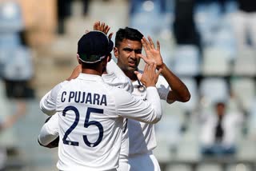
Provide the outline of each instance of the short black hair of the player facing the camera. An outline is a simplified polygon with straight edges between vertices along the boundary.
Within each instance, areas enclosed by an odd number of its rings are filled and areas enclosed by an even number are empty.
[[[143,34],[136,29],[126,26],[125,29],[120,28],[115,36],[115,45],[119,46],[123,39],[141,42]]]

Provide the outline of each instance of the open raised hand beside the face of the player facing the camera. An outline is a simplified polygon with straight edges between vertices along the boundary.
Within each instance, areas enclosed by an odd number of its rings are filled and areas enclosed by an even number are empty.
[[[160,42],[157,41],[157,48],[154,46],[154,42],[152,41],[152,38],[150,38],[150,36],[148,37],[148,40],[143,37],[141,42],[145,50],[146,56],[142,54],[138,54],[138,56],[142,58],[147,64],[156,63],[158,69],[162,68],[163,62],[160,53]]]

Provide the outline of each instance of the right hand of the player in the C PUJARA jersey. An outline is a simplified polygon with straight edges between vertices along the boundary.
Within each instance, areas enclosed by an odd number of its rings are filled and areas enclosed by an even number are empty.
[[[148,86],[155,86],[158,82],[158,76],[161,73],[162,69],[159,69],[156,72],[157,65],[155,63],[146,64],[144,68],[143,74],[140,74],[138,71],[134,73],[137,75],[138,79],[140,77],[140,82],[146,87]]]

